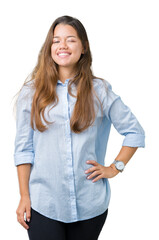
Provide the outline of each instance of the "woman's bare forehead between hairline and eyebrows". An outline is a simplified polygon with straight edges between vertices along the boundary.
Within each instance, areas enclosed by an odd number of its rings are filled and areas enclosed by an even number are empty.
[[[68,25],[68,24],[58,24],[53,33],[53,37],[63,37],[63,36],[76,36],[77,37],[77,32],[76,30]]]

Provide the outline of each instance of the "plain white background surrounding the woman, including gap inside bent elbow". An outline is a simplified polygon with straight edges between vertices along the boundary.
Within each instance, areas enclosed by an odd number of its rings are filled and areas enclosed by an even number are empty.
[[[3,1],[0,6],[0,238],[28,239],[17,222],[20,195],[13,151],[13,96],[37,62],[52,22],[78,18],[85,26],[93,71],[107,79],[143,126],[146,147],[125,171],[110,179],[109,214],[99,240],[159,239],[159,7],[158,1]],[[119,153],[123,136],[112,126],[106,165]],[[3,236],[3,237],[2,237]]]

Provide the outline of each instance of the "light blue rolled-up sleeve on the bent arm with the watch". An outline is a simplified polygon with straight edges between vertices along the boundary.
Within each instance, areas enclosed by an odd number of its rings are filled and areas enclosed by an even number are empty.
[[[107,90],[103,95],[104,113],[115,129],[125,136],[122,146],[144,148],[145,131],[141,124],[121,97],[112,91],[111,84],[106,80],[105,85]]]

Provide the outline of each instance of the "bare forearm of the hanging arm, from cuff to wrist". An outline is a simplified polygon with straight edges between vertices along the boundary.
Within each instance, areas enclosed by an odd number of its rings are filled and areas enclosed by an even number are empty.
[[[31,164],[21,164],[17,166],[19,190],[21,197],[29,196],[29,177]]]

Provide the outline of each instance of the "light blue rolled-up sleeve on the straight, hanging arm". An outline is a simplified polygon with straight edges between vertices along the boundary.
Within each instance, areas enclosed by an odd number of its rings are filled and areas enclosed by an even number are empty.
[[[14,142],[15,166],[34,163],[33,134],[30,125],[31,99],[30,89],[23,86],[16,104],[16,136]]]

